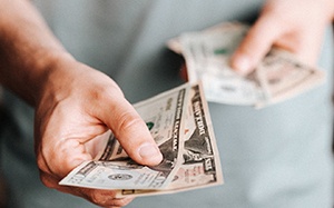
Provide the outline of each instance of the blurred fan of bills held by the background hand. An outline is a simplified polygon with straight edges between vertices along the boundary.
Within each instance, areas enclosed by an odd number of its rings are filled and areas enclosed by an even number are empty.
[[[255,106],[284,101],[324,81],[323,71],[298,61],[292,53],[273,48],[244,77],[230,66],[230,56],[248,31],[248,26],[225,22],[204,31],[186,32],[167,42],[184,56],[190,83],[203,81],[208,101]]]

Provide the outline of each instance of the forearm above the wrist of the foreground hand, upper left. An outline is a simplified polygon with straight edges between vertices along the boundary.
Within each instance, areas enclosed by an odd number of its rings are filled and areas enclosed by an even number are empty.
[[[72,59],[28,0],[0,0],[0,83],[35,105],[48,73]]]

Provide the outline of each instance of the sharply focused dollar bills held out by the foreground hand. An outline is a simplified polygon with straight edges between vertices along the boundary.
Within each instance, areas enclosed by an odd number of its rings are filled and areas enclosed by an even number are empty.
[[[134,105],[146,121],[164,160],[156,167],[134,162],[112,132],[95,160],[73,169],[59,184],[114,189],[117,196],[147,196],[223,184],[223,172],[202,86],[183,85]]]

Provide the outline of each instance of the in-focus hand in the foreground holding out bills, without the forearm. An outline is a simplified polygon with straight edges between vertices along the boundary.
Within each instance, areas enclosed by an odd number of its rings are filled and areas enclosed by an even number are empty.
[[[70,170],[96,156],[97,136],[111,129],[137,162],[158,165],[163,156],[146,123],[106,75],[75,60],[50,69],[36,110],[36,153],[48,187],[84,197],[99,206],[125,206],[115,191],[59,186]]]

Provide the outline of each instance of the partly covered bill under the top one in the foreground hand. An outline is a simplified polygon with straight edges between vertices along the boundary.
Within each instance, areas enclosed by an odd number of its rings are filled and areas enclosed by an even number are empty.
[[[121,190],[120,196],[161,195],[224,184],[219,153],[202,86],[190,88],[181,130],[181,157],[170,184],[159,190]]]

